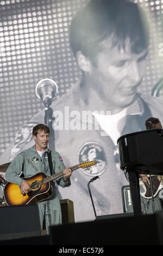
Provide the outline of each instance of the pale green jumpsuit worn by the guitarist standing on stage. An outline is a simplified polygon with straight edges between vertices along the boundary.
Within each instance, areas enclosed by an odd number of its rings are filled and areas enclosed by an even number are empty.
[[[22,151],[9,165],[9,168],[5,173],[6,180],[21,186],[23,181],[23,178],[20,177],[22,166],[24,177],[33,176],[37,174],[37,172],[45,172],[47,176],[51,176],[47,152],[49,152],[48,148],[46,148],[45,153],[43,153],[42,157],[40,157],[35,149],[35,146]],[[53,150],[51,152],[53,172],[57,173],[65,170],[65,165],[60,154]],[[43,218],[45,216],[46,230],[48,234],[49,227],[51,225],[58,225],[62,222],[59,191],[57,185],[61,187],[69,187],[71,185],[70,180],[65,182],[62,177],[57,178],[55,181],[53,180],[52,196],[48,200],[38,203],[41,228],[43,224]]]

